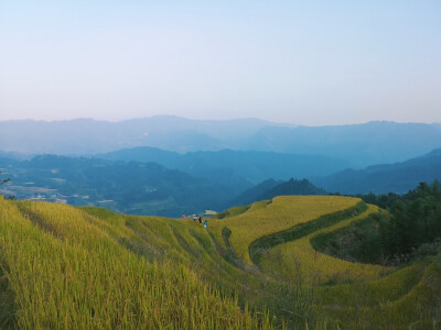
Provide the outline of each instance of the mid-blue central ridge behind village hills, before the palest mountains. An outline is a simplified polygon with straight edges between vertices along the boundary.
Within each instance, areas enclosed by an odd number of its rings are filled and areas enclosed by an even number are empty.
[[[232,150],[179,154],[154,147],[136,147],[99,154],[96,157],[126,162],[154,162],[195,177],[227,184],[236,193],[241,193],[268,178],[324,176],[348,166],[347,162],[330,156]]]

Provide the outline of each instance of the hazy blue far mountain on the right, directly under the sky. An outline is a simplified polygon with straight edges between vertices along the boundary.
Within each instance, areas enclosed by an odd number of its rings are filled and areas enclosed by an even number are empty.
[[[298,154],[320,154],[351,162],[352,167],[395,163],[441,147],[437,124],[369,122],[355,125],[263,128],[240,146]]]

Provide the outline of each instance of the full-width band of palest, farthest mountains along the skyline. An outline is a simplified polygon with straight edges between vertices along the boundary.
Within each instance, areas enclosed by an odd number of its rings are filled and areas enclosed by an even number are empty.
[[[0,150],[8,152],[86,155],[136,146],[179,153],[229,148],[322,155],[343,160],[348,167],[363,168],[404,162],[441,147],[441,127],[369,122],[314,128],[257,119],[203,121],[178,117],[120,122],[90,119],[0,122]]]

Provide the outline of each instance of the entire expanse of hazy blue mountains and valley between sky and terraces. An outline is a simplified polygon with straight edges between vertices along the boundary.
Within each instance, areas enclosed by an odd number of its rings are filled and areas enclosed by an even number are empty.
[[[135,215],[222,211],[275,197],[266,190],[290,179],[315,187],[283,195],[405,194],[441,179],[437,124],[308,128],[154,117],[0,128],[0,167],[12,179],[2,194]]]

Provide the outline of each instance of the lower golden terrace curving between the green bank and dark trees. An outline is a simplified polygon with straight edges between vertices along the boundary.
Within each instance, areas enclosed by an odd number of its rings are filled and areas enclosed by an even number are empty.
[[[279,277],[301,271],[303,276],[311,279],[313,278],[316,283],[333,279],[341,282],[378,277],[387,271],[386,267],[340,260],[315,251],[310,242],[311,239],[320,234],[347,227],[378,211],[378,207],[369,205],[367,210],[361,215],[345,219],[332,227],[320,229],[299,240],[270,249],[261,256],[261,267],[263,272],[272,273]]]

